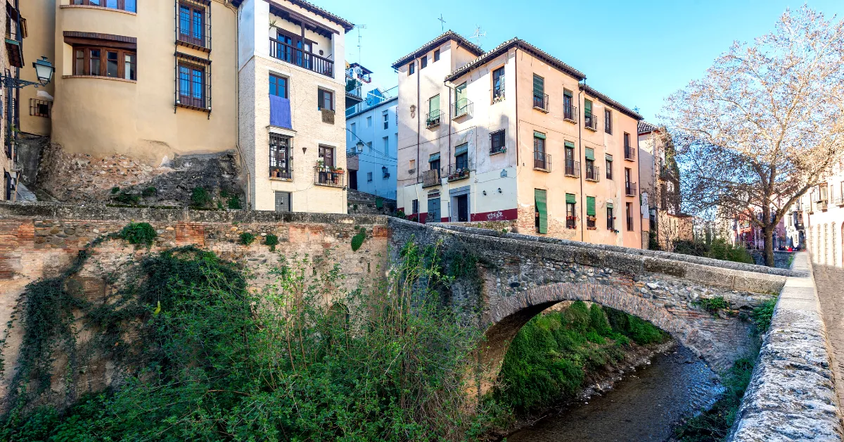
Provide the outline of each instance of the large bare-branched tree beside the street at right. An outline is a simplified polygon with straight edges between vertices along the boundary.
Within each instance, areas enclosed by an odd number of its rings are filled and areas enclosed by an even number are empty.
[[[748,216],[774,265],[776,224],[844,151],[842,97],[844,22],[836,16],[786,10],[771,34],[733,43],[663,109],[684,204]]]

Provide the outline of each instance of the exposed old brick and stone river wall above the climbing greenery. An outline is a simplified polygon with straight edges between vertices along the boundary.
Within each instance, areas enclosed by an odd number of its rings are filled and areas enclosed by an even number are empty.
[[[315,270],[338,264],[344,276],[339,288],[344,291],[371,286],[387,270],[385,216],[0,203],[0,324],[6,324],[27,284],[59,275],[93,239],[119,232],[130,221],[154,226],[158,236],[153,247],[134,248],[121,239],[95,247],[91,259],[74,276],[86,296],[113,291],[114,285],[124,281],[121,276],[147,254],[191,244],[245,265],[254,276],[250,283],[255,290],[273,281],[270,272],[282,259],[294,257],[325,258],[311,264]],[[367,238],[363,247],[353,252],[351,237],[360,227],[365,228]],[[257,240],[242,245],[241,232],[252,232]],[[279,237],[275,252],[263,243],[267,234]],[[118,277],[114,280],[113,276]],[[17,357],[19,342],[20,330],[13,329],[4,351],[7,361]],[[91,390],[106,386],[110,379],[105,365],[98,367],[88,370],[91,374],[85,383]],[[8,373],[4,379],[9,379]],[[2,386],[0,395],[5,384]]]

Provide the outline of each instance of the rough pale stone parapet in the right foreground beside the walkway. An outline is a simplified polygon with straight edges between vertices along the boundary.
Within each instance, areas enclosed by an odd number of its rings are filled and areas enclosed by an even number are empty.
[[[842,440],[830,344],[808,255],[797,254],[793,267],[809,276],[790,277],[782,289],[728,440]]]

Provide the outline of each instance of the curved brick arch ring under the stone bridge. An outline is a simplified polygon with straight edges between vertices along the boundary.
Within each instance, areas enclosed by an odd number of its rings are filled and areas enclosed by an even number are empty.
[[[716,346],[712,341],[668,309],[616,286],[587,282],[558,282],[502,298],[499,303],[489,309],[489,314],[485,316],[486,341],[482,344],[480,363],[486,372],[483,378],[490,382],[482,382],[482,391],[487,390],[491,381],[497,377],[501,364],[504,362],[507,347],[522,326],[545,308],[562,301],[598,303],[645,319],[668,332],[675,340],[689,347],[698,356],[703,357],[711,367],[726,368],[722,357],[714,353]]]

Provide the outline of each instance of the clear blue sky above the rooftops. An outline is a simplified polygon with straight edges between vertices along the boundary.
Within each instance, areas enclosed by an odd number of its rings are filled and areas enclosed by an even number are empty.
[[[803,0],[312,0],[366,25],[360,63],[385,87],[397,84],[390,65],[446,30],[470,36],[480,26],[484,50],[514,36],[582,71],[587,82],[655,120],[663,100],[700,78],[733,41],[773,29],[786,8]],[[844,0],[809,0],[828,17],[844,16]],[[346,34],[346,59],[358,61],[358,31]]]

